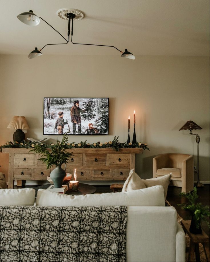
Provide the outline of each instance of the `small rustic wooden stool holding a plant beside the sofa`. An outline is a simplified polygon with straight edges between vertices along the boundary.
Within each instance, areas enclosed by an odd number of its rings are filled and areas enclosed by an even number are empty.
[[[209,237],[203,230],[201,234],[191,233],[190,224],[191,224],[191,220],[181,220],[181,225],[183,227],[183,230],[185,233],[187,233],[187,235],[190,238],[190,246],[186,247],[186,250],[189,249],[189,255],[187,261],[193,261],[194,252],[195,252],[196,261],[201,261],[198,243],[202,243],[206,255],[206,259],[207,261],[209,261]]]

